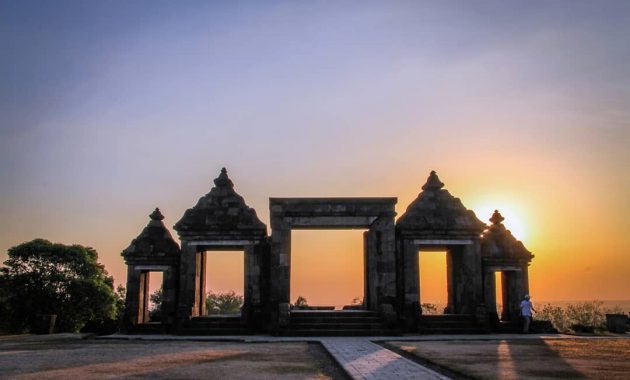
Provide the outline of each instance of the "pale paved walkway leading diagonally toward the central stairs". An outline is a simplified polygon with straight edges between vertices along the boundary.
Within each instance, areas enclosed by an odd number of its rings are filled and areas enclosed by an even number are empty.
[[[320,342],[356,380],[449,379],[365,338],[321,338]]]

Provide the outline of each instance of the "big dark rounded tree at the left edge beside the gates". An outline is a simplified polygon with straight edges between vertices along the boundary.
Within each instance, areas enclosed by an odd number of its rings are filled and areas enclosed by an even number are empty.
[[[93,248],[35,239],[10,248],[8,256],[0,299],[10,330],[32,330],[40,314],[56,314],[59,331],[115,317],[113,279]]]

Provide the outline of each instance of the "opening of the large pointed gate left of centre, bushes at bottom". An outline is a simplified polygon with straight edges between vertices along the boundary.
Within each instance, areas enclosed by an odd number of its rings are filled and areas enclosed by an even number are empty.
[[[243,251],[204,252],[205,314],[240,314],[245,289]]]

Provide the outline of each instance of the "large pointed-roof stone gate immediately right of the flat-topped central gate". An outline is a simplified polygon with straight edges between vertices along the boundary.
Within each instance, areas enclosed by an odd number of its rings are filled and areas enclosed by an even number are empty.
[[[481,233],[486,225],[452,196],[432,171],[422,192],[396,222],[402,319],[417,325],[420,309],[418,251],[447,252],[449,314],[476,315],[482,304]]]

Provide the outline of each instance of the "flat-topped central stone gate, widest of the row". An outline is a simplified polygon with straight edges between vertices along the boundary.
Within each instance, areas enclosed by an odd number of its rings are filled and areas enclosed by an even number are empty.
[[[270,198],[271,312],[280,326],[288,323],[291,284],[291,230],[366,228],[365,295],[367,310],[395,320],[396,198]]]

